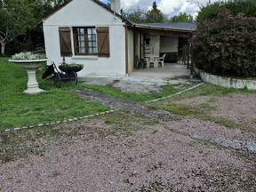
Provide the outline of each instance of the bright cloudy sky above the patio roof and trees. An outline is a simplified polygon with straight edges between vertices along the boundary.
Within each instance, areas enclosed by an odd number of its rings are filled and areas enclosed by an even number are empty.
[[[106,2],[107,0],[101,0]],[[129,9],[132,7],[140,7],[142,9],[148,9],[152,6],[155,0],[121,0],[122,7],[124,9]],[[215,2],[218,0],[212,0]],[[158,8],[168,15],[176,15],[179,12],[187,12],[196,15],[200,5],[205,5],[209,0],[156,0]]]

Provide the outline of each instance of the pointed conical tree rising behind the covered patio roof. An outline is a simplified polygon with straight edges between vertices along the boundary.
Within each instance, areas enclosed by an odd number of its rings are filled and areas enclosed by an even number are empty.
[[[157,4],[156,1],[153,2],[152,5],[152,9],[149,10],[148,12],[146,12],[146,22],[150,23],[150,22],[164,22],[166,21],[166,17],[164,17],[164,13],[161,12],[158,8],[157,8]]]

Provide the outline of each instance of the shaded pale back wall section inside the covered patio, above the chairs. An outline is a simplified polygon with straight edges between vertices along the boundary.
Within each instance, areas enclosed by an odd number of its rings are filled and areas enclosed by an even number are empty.
[[[178,52],[179,38],[174,36],[161,36],[160,52]]]

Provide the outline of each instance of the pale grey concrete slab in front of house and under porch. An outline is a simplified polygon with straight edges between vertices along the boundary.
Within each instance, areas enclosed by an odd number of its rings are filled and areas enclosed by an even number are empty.
[[[87,76],[79,78],[79,81],[84,84],[111,85],[122,92],[148,93],[163,92],[162,86],[166,84],[191,84],[188,76],[186,66],[165,64],[164,68],[138,69],[124,77]]]

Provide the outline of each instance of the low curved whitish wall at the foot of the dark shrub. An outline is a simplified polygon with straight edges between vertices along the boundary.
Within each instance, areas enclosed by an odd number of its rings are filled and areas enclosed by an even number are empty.
[[[201,76],[202,80],[209,84],[216,84],[223,87],[256,90],[256,80],[239,79],[225,76],[215,76],[196,68],[196,73]]]

